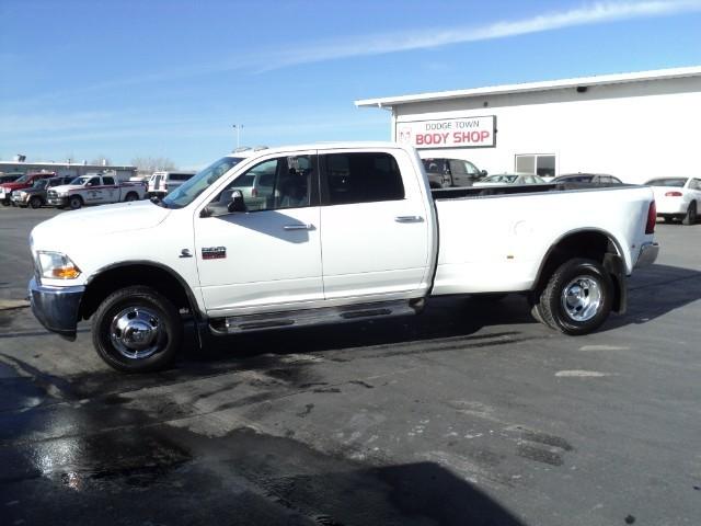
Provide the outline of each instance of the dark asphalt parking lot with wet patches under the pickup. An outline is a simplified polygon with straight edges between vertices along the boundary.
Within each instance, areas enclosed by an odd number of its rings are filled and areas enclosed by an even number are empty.
[[[55,214],[0,208],[2,525],[701,523],[701,225],[596,334],[447,298],[124,376],[15,301]]]

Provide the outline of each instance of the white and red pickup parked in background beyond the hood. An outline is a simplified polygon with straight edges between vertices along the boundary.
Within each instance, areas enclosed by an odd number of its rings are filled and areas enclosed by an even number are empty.
[[[146,196],[146,186],[140,182],[123,183],[112,175],[87,174],[76,178],[70,184],[48,191],[48,204],[58,208],[77,210],[84,205],[104,205],[120,201],[138,201]]]

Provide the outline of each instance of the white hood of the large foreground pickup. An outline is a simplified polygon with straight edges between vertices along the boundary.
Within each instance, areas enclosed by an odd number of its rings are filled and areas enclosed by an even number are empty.
[[[37,225],[32,230],[32,240],[36,250],[66,251],[73,242],[84,244],[90,237],[153,228],[171,211],[150,201],[65,211]]]

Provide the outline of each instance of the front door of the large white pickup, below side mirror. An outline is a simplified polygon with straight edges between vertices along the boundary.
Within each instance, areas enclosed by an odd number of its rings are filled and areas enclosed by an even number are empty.
[[[232,192],[245,188],[260,174],[272,174],[273,186],[255,195],[242,191],[248,211],[229,213]],[[203,210],[194,218],[194,255],[209,316],[284,310],[323,301],[319,178],[313,152],[256,163]]]

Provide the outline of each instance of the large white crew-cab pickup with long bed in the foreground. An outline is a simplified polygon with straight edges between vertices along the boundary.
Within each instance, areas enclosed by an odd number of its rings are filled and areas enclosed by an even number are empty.
[[[274,173],[263,203],[240,190]],[[416,152],[342,144],[225,157],[161,202],[64,214],[30,243],[32,308],[100,356],[164,367],[192,316],[211,335],[416,313],[428,296],[526,294],[567,334],[625,308],[627,276],[655,261],[643,186],[429,190]],[[74,232],[80,230],[80,236]]]

